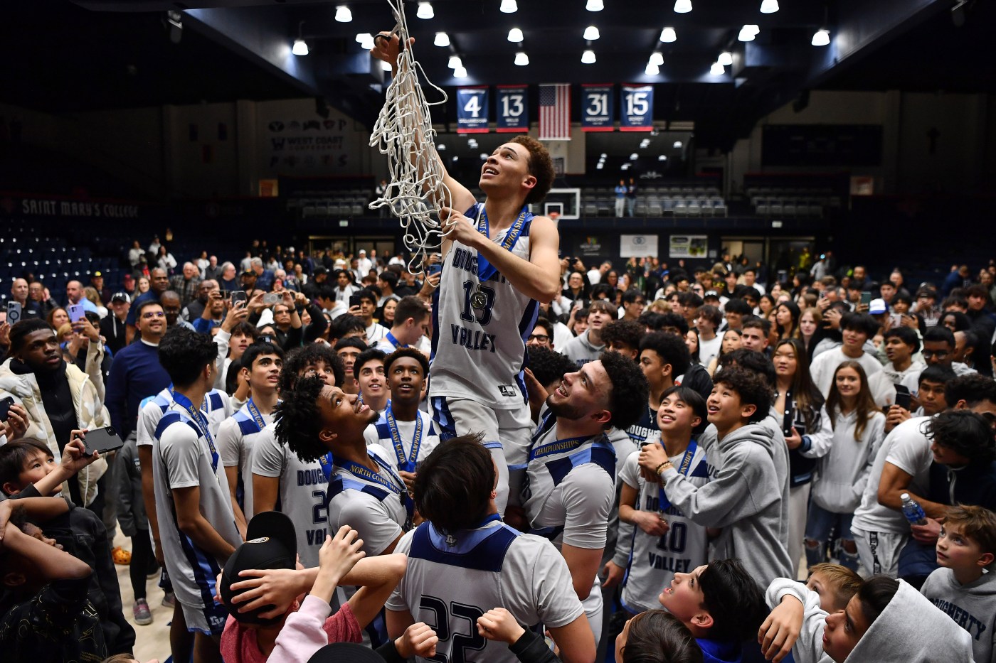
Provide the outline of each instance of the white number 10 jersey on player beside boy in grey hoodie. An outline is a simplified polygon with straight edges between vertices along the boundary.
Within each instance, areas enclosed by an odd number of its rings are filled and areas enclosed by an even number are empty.
[[[704,486],[709,482],[705,449],[695,445],[688,451],[691,454],[686,462],[685,454],[670,460],[694,486]],[[637,489],[636,511],[661,514],[670,527],[662,537],[633,528],[629,568],[622,586],[622,605],[634,613],[659,607],[657,595],[670,583],[675,572],[689,573],[708,561],[705,528],[685,518],[676,507],[665,503],[661,509],[660,486],[639,476],[638,461],[639,451],[629,454],[622,466],[620,481]]]

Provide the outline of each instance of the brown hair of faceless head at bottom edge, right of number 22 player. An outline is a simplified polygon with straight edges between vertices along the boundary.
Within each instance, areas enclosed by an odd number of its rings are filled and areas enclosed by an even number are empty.
[[[688,627],[666,610],[647,610],[629,622],[620,663],[701,663],[702,649]]]

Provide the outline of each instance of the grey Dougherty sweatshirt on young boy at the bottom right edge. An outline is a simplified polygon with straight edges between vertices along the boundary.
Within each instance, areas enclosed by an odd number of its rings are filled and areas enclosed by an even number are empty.
[[[983,573],[977,580],[961,584],[950,568],[938,568],[927,577],[920,593],[968,631],[977,662],[993,660],[996,651],[996,573]]]

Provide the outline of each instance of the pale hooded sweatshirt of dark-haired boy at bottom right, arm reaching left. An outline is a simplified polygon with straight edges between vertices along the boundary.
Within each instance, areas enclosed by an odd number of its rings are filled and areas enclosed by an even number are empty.
[[[899,580],[885,609],[858,641],[844,663],[972,663],[971,636],[913,587]],[[802,630],[792,648],[797,663],[833,663],[823,651],[827,613],[820,595],[802,582],[776,578],[765,595],[774,608],[791,594],[804,607]],[[988,660],[988,659],[979,659]]]

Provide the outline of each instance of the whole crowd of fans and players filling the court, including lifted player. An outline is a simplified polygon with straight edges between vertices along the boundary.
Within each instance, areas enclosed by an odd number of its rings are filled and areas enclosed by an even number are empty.
[[[586,269],[553,173],[518,136],[487,202],[447,175],[421,275],[15,281],[3,651],[133,660],[156,573],[174,661],[994,660],[996,266]]]

